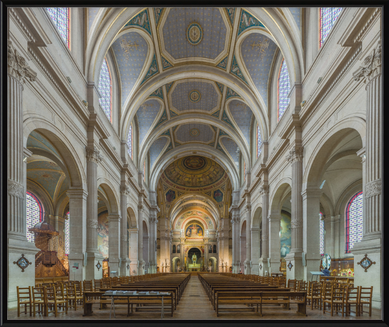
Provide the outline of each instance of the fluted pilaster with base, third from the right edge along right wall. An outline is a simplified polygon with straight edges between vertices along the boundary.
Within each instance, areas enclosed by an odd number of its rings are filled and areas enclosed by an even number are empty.
[[[265,272],[270,273],[267,259],[269,258],[269,185],[263,184],[260,188],[262,194],[262,257],[258,260],[259,275],[265,276]]]

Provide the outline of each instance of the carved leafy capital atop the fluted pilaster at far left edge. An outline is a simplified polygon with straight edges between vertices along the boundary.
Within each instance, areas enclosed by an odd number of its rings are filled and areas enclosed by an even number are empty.
[[[25,83],[25,79],[29,78],[30,82],[36,79],[36,73],[27,65],[26,60],[19,55],[18,51],[8,40],[8,73],[14,76],[20,83]]]

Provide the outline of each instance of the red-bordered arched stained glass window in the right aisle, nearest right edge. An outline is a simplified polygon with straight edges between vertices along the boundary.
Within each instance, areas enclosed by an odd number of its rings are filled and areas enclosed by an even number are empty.
[[[354,195],[346,212],[346,253],[350,253],[355,242],[362,239],[363,227],[362,191]]]

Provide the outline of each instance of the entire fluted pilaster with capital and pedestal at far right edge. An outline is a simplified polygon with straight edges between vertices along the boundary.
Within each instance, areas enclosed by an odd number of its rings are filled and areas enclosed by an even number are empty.
[[[368,55],[362,66],[353,73],[354,80],[361,78],[366,83],[366,162],[363,189],[363,236],[354,243],[355,286],[373,286],[372,307],[381,309],[381,233],[382,233],[382,76],[381,40]],[[368,278],[360,262],[368,254],[371,262],[368,269],[374,278]]]

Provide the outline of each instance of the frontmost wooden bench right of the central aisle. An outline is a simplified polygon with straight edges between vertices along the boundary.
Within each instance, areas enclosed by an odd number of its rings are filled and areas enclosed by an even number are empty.
[[[297,298],[301,297],[301,300]],[[262,317],[263,305],[283,305],[285,309],[290,309],[290,304],[297,304],[297,313],[302,315],[306,314],[306,291],[242,291],[242,292],[230,292],[230,291],[218,291],[216,302],[216,316],[219,316],[220,305],[223,304],[241,304],[251,305],[249,310],[258,312]],[[256,310],[255,306],[256,305]],[[259,308],[259,311],[258,311]],[[230,311],[236,309],[245,308],[222,308],[223,311]]]

